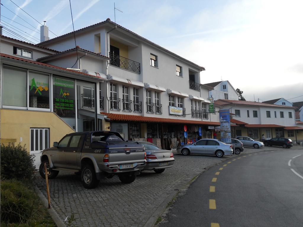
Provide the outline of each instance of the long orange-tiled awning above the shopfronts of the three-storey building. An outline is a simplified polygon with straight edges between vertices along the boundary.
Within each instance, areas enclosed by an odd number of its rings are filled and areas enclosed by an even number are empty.
[[[183,120],[183,119],[172,119],[172,118],[161,118],[161,117],[144,117],[141,115],[129,115],[129,114],[118,114],[118,113],[101,113],[106,115],[111,121],[139,121],[139,122],[154,122],[154,123],[180,123],[180,124],[200,124],[200,125],[212,125],[219,126],[219,122],[213,121],[201,121],[201,120]]]

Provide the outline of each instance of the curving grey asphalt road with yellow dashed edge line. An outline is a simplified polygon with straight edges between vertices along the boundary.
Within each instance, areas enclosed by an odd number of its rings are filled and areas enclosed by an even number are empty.
[[[216,179],[215,179],[216,178]],[[159,226],[303,226],[303,150],[236,156],[201,174]]]

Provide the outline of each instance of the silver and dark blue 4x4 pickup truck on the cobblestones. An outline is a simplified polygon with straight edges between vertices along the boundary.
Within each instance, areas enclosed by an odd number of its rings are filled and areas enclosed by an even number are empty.
[[[142,144],[124,141],[112,131],[71,133],[54,146],[43,150],[40,175],[55,178],[59,171],[81,174],[85,188],[98,186],[100,179],[118,175],[122,183],[132,183],[146,165],[146,153]]]

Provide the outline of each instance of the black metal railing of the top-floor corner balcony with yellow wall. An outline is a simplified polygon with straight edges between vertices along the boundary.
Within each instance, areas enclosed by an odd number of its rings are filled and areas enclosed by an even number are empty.
[[[109,52],[111,65],[140,74],[140,63]]]

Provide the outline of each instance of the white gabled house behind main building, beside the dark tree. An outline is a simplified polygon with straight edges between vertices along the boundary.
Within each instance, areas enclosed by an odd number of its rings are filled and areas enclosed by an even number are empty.
[[[238,92],[235,90],[235,88],[231,85],[229,81],[218,81],[204,85],[214,88],[214,90],[209,91],[209,97],[213,97],[214,100],[239,100]]]

